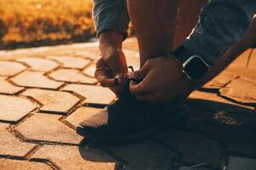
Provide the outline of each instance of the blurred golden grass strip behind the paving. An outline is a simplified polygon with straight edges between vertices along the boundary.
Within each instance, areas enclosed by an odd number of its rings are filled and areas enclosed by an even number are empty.
[[[92,0],[0,0],[0,48],[85,42]]]

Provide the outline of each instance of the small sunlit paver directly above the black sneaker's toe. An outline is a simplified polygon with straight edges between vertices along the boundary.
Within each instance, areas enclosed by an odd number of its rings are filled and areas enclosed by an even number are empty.
[[[79,107],[71,115],[67,116],[66,121],[72,124],[73,127],[77,127],[79,122],[83,121],[87,117],[95,115],[99,111],[101,111],[101,109],[93,107]]]

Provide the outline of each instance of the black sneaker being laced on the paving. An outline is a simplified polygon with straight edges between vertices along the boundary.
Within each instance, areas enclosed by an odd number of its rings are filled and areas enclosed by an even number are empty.
[[[184,99],[169,105],[152,105],[130,96],[80,122],[77,133],[95,143],[130,143],[166,127],[176,127],[188,110]]]

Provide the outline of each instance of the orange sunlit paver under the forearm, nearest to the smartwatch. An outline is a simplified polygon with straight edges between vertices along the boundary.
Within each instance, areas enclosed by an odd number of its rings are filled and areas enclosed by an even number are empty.
[[[232,75],[228,72],[222,72],[217,77],[213,78],[212,81],[207,82],[203,88],[223,88],[227,83],[236,79],[237,76]]]

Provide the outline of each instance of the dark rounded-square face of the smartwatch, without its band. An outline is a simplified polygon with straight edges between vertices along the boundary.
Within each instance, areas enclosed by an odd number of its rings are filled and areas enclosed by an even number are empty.
[[[188,63],[184,65],[183,71],[191,79],[200,79],[206,75],[208,71],[208,65],[198,56],[193,56],[189,59]]]

